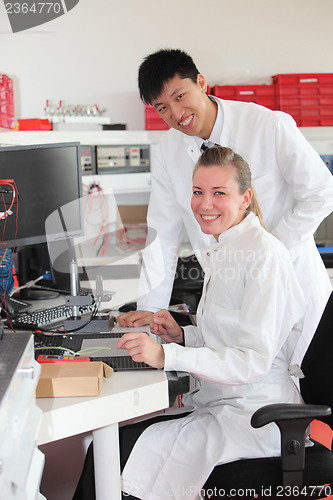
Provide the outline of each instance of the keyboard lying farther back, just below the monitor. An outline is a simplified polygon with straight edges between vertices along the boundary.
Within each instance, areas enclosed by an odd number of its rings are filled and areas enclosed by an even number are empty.
[[[91,314],[95,311],[95,304],[79,306],[80,314]],[[7,321],[7,325],[17,330],[40,330],[62,326],[67,318],[73,315],[71,306],[56,306],[32,313],[24,313]]]

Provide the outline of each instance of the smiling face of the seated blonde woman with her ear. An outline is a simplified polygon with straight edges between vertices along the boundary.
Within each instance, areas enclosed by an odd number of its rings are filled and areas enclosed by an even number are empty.
[[[232,165],[199,166],[193,175],[191,208],[201,230],[218,241],[221,233],[244,219],[251,194],[250,189],[239,193]]]

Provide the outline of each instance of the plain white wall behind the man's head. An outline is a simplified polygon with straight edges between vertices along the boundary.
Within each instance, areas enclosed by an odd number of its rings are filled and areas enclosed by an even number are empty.
[[[0,2],[0,73],[14,79],[16,118],[41,117],[46,99],[62,99],[97,103],[113,123],[140,130],[145,55],[182,48],[210,85],[332,73],[332,19],[332,0],[80,0],[13,34]]]

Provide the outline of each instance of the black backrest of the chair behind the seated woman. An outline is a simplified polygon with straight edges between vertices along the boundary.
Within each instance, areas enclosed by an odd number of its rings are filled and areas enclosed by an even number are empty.
[[[333,410],[333,293],[302,361],[300,389],[305,403]],[[333,415],[322,419],[333,429]]]

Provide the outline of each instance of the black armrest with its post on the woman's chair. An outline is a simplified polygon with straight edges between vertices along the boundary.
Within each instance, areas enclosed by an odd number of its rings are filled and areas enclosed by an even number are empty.
[[[279,403],[263,406],[252,415],[252,427],[274,422],[280,429],[283,486],[303,486],[306,430],[313,419],[331,412],[324,405]]]

